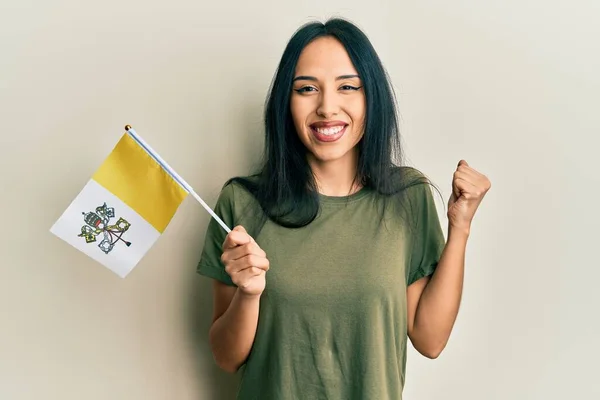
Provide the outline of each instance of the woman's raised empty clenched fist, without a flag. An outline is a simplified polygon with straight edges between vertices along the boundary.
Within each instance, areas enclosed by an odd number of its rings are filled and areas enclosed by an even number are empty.
[[[460,160],[452,179],[452,195],[448,200],[448,221],[453,229],[470,232],[479,204],[490,190],[490,180]]]

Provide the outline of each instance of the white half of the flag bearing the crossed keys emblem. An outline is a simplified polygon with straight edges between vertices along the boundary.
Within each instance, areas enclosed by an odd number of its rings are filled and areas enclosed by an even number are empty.
[[[104,204],[109,212],[97,212],[97,207]],[[95,222],[90,223],[91,220]],[[94,229],[95,223],[100,224],[100,228],[112,228]],[[82,228],[95,241],[87,243],[85,235],[78,236],[82,234]],[[51,232],[122,278],[131,272],[160,236],[152,225],[93,179],[52,226]]]

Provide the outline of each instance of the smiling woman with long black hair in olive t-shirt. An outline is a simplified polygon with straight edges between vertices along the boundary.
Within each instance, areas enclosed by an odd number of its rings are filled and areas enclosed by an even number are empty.
[[[340,19],[288,43],[265,111],[265,160],[224,185],[198,265],[210,343],[239,399],[401,399],[407,340],[445,347],[488,179],[461,160],[447,241],[429,181],[403,166],[393,91]],[[396,159],[394,159],[396,157]]]

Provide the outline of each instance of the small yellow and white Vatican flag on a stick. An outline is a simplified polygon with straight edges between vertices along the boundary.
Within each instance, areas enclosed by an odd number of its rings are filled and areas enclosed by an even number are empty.
[[[189,185],[127,126],[50,231],[123,278],[165,231],[190,192]]]

